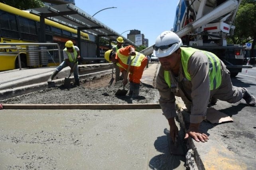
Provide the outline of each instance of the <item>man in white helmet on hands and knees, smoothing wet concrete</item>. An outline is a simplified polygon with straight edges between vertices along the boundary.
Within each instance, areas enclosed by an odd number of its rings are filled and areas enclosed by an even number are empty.
[[[191,136],[205,142],[209,138],[199,131],[199,125],[206,118],[210,97],[229,103],[244,99],[249,106],[254,106],[256,101],[247,89],[232,85],[230,72],[215,54],[181,46],[181,39],[171,31],[161,33],[153,46],[153,54],[161,64],[156,78],[159,103],[169,122],[173,141],[178,136],[174,121],[175,96],[178,96],[191,112],[185,139]]]

